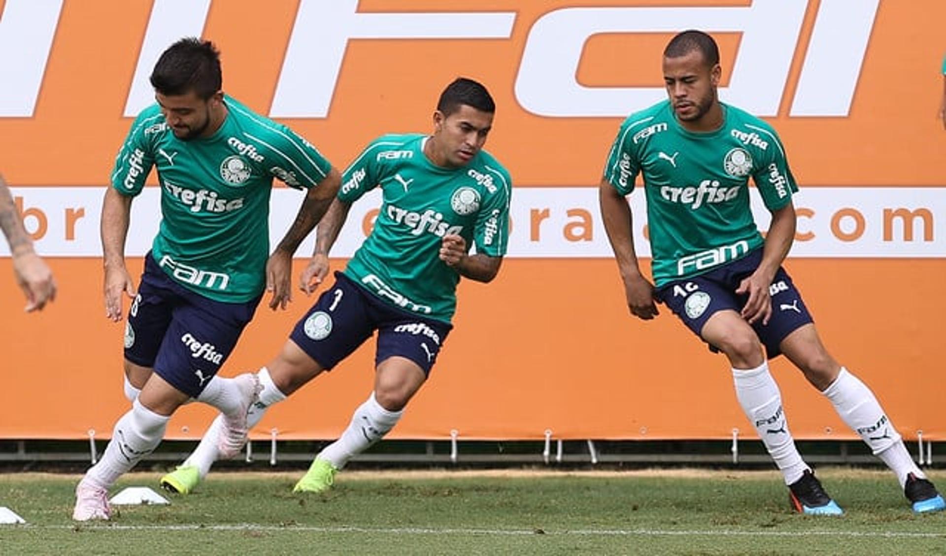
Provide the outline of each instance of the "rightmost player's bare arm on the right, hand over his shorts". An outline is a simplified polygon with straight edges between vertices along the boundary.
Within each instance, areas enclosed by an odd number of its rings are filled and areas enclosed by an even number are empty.
[[[782,261],[792,249],[794,240],[795,206],[789,202],[772,212],[772,223],[765,235],[765,247],[762,249],[762,263],[736,289],[736,293],[749,295],[742,314],[750,324],[760,320],[762,324],[768,324],[772,316],[772,297],[769,295],[769,287]]]

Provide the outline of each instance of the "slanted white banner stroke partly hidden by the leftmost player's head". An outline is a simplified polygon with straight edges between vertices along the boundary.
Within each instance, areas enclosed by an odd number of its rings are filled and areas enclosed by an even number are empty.
[[[154,89],[149,81],[154,64],[181,37],[200,37],[209,9],[210,0],[154,0],[125,102],[125,117],[134,117],[154,103]]]

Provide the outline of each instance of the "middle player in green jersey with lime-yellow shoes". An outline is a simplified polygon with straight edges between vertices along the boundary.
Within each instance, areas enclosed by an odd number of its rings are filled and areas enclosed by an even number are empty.
[[[353,456],[381,439],[401,418],[452,328],[461,277],[490,282],[506,251],[511,181],[482,150],[495,104],[486,89],[459,78],[433,113],[433,134],[383,135],[342,176],[342,189],[316,235],[302,274],[309,293],[328,273],[328,252],[351,204],[380,187],[374,230],[343,272],[300,320],[270,363],[250,424],[272,404],[332,369],[377,332],[375,388],[355,409],[342,437],[320,452],[297,492],[321,492]],[[476,252],[469,252],[476,245]],[[189,493],[217,459],[222,416],[176,471],[166,489]]]

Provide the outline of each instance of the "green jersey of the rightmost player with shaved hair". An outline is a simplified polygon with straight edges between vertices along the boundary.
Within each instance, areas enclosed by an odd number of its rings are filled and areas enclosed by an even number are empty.
[[[669,100],[622,123],[604,179],[622,195],[643,175],[657,286],[701,274],[762,246],[749,207],[749,177],[775,211],[797,191],[771,126],[723,105],[719,130],[695,133],[676,121]]]

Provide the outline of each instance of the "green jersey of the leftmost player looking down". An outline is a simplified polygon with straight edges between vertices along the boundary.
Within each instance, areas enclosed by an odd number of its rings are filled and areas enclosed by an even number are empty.
[[[136,196],[156,166],[161,225],[154,260],[188,289],[243,303],[266,285],[272,179],[313,187],[331,165],[286,126],[230,96],[224,103],[220,129],[186,141],[174,136],[157,104],[146,108],[115,159],[112,186]]]

